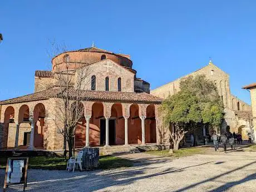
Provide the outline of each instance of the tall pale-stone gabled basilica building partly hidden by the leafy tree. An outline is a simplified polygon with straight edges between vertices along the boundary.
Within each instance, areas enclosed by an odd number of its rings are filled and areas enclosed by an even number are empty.
[[[248,140],[248,134],[251,134],[253,130],[252,107],[231,93],[228,73],[224,72],[210,61],[208,65],[199,68],[184,77],[190,75],[205,75],[205,77],[212,81],[216,86],[220,99],[223,101],[225,112],[221,134],[224,134],[227,131],[232,133],[236,132],[242,135],[243,140]],[[180,81],[184,77],[180,77],[163,86],[157,87],[150,93],[163,99],[167,98],[169,95],[174,95],[179,91]],[[227,130],[227,126],[229,127],[229,130]],[[200,134],[201,136],[209,134],[208,127],[204,127],[199,135]]]

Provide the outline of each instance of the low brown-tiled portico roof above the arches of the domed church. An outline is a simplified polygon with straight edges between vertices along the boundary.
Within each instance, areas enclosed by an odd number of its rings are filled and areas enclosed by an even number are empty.
[[[19,102],[29,102],[46,100],[54,97],[60,97],[60,88],[48,88],[40,92],[35,92],[29,95],[16,97],[9,100],[0,101],[0,105],[15,104]],[[76,91],[74,88],[70,88],[71,97],[75,97]],[[152,102],[160,104],[163,100],[159,97],[150,95],[148,93],[136,93],[136,92],[115,92],[115,91],[90,91],[83,90],[81,92],[83,100],[110,100],[110,101],[130,101],[130,102]]]

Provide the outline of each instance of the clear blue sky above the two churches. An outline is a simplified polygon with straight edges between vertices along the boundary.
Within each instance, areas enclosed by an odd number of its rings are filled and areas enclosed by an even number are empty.
[[[208,64],[230,75],[231,91],[256,82],[256,1],[1,1],[0,100],[32,93],[51,66],[50,41],[131,55],[137,77],[164,85]]]

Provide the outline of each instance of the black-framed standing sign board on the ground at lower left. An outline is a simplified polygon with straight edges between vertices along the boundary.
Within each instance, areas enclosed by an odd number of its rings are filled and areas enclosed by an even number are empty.
[[[27,186],[28,157],[10,157],[7,159],[6,176],[4,178],[3,191],[9,185],[24,184]]]

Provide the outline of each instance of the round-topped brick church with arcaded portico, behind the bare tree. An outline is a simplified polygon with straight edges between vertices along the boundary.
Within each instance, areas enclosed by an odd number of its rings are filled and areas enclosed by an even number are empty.
[[[83,68],[88,71],[76,148],[169,143],[159,115],[162,99],[149,94],[150,83],[136,76],[130,56],[92,46],[55,56],[51,71],[35,72],[34,93],[0,102],[2,149],[63,149],[63,130],[48,114],[56,111],[60,100],[57,68],[65,70],[67,64],[73,79]],[[76,81],[70,86],[75,90]]]

